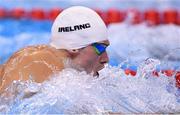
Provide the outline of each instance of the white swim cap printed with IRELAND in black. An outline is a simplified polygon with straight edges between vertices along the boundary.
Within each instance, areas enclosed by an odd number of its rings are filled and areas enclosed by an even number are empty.
[[[79,49],[107,40],[107,28],[93,10],[73,6],[61,12],[51,28],[50,45],[57,49]]]

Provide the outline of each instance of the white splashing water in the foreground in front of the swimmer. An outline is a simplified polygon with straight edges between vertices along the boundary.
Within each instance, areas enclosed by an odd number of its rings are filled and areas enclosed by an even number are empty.
[[[148,59],[143,64],[139,73],[154,70],[159,61]],[[41,84],[14,82],[8,88],[11,95],[1,95],[0,110],[7,114],[178,113],[178,89],[171,86],[169,91],[168,86],[168,77],[126,76],[119,66],[106,66],[98,78],[67,68]]]

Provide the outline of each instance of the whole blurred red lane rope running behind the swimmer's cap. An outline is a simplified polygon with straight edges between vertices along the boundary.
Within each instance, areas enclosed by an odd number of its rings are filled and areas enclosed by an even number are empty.
[[[50,10],[44,10],[43,8],[33,8],[31,10],[25,10],[23,8],[14,8],[11,10],[0,8],[0,19],[15,18],[15,19],[32,19],[32,20],[50,20],[53,21],[63,9],[52,8]],[[101,16],[104,22],[108,25],[110,23],[123,22],[125,19],[130,24],[139,24],[146,21],[148,25],[158,24],[178,24],[180,25],[180,11],[175,9],[167,9],[159,12],[155,9],[147,9],[144,12],[138,9],[108,9],[106,11],[95,9],[95,11]],[[129,20],[129,14],[131,19]]]

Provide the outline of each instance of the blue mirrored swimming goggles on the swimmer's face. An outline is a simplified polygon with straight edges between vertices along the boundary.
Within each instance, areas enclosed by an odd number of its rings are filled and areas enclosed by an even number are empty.
[[[92,46],[95,49],[96,54],[101,55],[102,53],[104,53],[106,51],[106,48],[108,45],[106,45],[104,43],[93,43]]]

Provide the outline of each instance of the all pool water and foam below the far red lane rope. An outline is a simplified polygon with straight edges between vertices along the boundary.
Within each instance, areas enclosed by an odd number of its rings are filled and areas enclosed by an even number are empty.
[[[51,26],[50,21],[0,20],[1,64],[20,48],[48,44]],[[0,97],[0,113],[179,113],[174,76],[152,72],[180,70],[180,27],[125,22],[108,30],[110,62],[98,78],[67,68],[43,83],[14,81],[7,89],[13,95]],[[136,76],[126,75],[125,68],[137,70]]]

